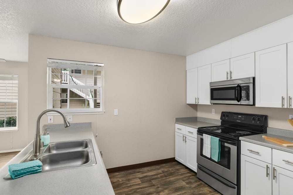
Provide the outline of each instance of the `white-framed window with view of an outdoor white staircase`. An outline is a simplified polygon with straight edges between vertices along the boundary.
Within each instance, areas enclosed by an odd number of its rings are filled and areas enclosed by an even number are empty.
[[[104,64],[47,59],[48,108],[103,110]]]

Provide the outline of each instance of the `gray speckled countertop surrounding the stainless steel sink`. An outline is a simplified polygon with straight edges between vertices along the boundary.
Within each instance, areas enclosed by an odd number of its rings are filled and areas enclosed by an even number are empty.
[[[15,180],[2,179],[8,165],[18,163],[32,150],[33,142],[0,169],[0,194],[114,194],[91,128],[50,130],[50,142],[91,139],[97,164],[55,172],[26,175]],[[32,138],[33,140],[33,138]]]

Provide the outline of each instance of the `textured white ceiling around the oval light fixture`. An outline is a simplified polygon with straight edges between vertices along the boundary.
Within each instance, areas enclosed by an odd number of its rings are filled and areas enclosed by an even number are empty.
[[[187,56],[292,14],[292,0],[171,0],[133,25],[116,0],[0,0],[0,58],[28,61],[28,34]]]

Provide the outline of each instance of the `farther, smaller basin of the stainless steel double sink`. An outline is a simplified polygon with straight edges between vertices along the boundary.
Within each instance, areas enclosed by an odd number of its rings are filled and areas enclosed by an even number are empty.
[[[88,148],[87,140],[63,141],[49,144],[45,149],[45,153],[66,152],[74,150],[82,150]]]

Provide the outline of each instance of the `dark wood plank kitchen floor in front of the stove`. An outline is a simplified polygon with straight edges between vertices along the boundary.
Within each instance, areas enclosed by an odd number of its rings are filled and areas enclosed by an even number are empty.
[[[115,194],[220,195],[178,162],[109,174]]]

